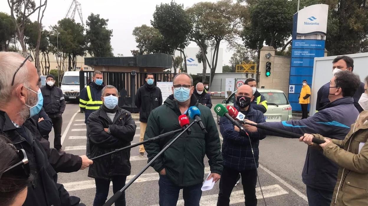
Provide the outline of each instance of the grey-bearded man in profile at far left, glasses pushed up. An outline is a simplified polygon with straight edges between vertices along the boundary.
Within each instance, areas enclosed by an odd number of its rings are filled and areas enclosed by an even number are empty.
[[[29,117],[41,110],[43,101],[40,78],[28,58],[14,52],[0,52],[0,72],[3,74],[0,78],[0,132],[7,135],[18,150],[25,150],[33,176],[23,205],[79,205],[80,199],[69,196],[64,186],[57,183],[57,174],[49,163],[55,153],[50,153],[52,150],[46,150],[40,142],[47,141],[34,136],[25,126],[28,120],[33,120]],[[54,165],[66,166],[61,161]]]

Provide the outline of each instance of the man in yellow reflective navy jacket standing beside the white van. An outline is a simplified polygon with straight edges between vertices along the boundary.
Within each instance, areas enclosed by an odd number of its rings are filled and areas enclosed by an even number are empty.
[[[90,158],[90,147],[89,147],[89,139],[88,139],[88,123],[87,119],[89,115],[98,110],[100,106],[102,105],[101,101],[101,90],[105,85],[103,84],[103,76],[101,71],[94,71],[92,75],[92,82],[84,89],[82,89],[81,94],[79,95],[79,107],[83,110],[87,132],[87,143],[86,143],[86,155],[88,158]]]

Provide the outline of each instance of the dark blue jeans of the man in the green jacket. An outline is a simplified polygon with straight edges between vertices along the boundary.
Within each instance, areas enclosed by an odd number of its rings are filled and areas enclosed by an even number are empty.
[[[166,175],[160,175],[159,187],[160,206],[175,206],[178,202],[180,189],[183,189],[184,206],[199,206],[202,183],[180,187],[171,182]]]

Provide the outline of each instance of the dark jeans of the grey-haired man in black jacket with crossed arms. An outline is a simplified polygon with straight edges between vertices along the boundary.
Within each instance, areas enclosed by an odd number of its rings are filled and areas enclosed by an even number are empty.
[[[113,192],[114,194],[125,186],[127,176],[114,176],[113,181]],[[93,206],[102,206],[105,204],[107,195],[109,195],[110,180],[95,178],[96,182],[96,195],[93,200]],[[125,206],[125,192],[116,200],[115,206]]]

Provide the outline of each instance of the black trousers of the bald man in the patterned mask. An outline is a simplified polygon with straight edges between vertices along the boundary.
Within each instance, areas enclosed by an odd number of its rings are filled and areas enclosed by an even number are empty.
[[[255,196],[255,186],[257,184],[257,171],[244,170],[237,171],[229,167],[225,167],[222,171],[219,185],[219,199],[217,206],[228,206],[230,203],[230,195],[234,185],[237,182],[238,174],[241,175],[241,184],[243,185],[244,199],[246,206],[256,206],[257,197]]]

